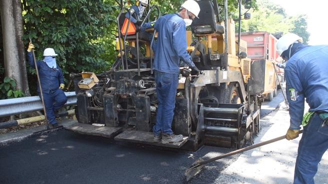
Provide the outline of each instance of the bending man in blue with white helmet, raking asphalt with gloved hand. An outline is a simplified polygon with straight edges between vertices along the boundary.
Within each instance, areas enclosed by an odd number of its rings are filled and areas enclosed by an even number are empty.
[[[296,34],[283,35],[276,44],[288,60],[284,74],[290,127],[286,139],[303,134],[298,145],[294,184],[314,184],[322,155],[328,149],[328,45],[308,46]],[[304,114],[304,99],[310,109]]]

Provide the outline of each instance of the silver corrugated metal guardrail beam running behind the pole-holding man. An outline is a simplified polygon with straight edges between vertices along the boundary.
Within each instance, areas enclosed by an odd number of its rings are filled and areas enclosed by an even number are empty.
[[[76,105],[75,92],[65,92],[67,102],[64,106]],[[11,116],[34,111],[43,110],[40,97],[22,97],[0,100],[0,117]]]

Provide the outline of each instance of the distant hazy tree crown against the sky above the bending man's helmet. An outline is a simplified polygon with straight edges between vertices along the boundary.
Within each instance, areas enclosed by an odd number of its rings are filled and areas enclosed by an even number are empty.
[[[303,43],[307,44],[308,38],[310,36],[309,32],[307,32],[307,16],[304,14],[298,15],[292,22],[294,27],[292,27],[289,31],[297,34],[301,38],[303,38]]]

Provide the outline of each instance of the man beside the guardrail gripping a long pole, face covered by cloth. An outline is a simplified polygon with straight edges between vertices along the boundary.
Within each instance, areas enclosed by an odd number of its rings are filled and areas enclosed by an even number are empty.
[[[34,45],[29,43],[27,48],[28,63],[32,68],[35,68],[32,54]],[[57,65],[55,57],[57,54],[52,48],[46,48],[43,52],[44,59],[37,61],[37,68],[40,77],[44,106],[48,122],[53,128],[58,127],[56,121],[57,111],[66,103],[67,97],[62,91],[65,87],[63,73]],[[40,96],[40,88],[37,85],[37,92]],[[41,98],[41,96],[40,96]]]

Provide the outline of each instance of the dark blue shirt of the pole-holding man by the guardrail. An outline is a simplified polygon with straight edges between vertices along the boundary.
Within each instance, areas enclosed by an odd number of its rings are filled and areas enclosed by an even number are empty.
[[[35,68],[32,52],[27,52],[27,59],[29,65]],[[59,84],[64,83],[64,76],[59,65],[57,65],[57,68],[50,68],[44,61],[37,61],[36,65],[43,93],[49,93],[50,90],[58,89]],[[37,92],[40,92],[38,84]]]

